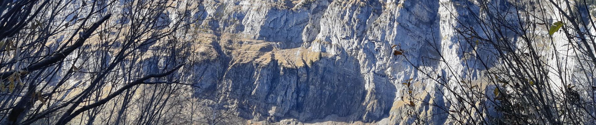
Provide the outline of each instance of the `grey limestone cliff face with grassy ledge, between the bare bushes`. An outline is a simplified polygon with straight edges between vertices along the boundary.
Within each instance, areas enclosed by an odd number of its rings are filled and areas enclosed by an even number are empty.
[[[197,51],[203,56],[195,68],[207,72],[197,94],[229,90],[232,104],[249,105],[241,117],[253,121],[405,123],[401,84],[418,75],[406,59],[420,65],[421,57],[442,54],[449,63],[461,63],[450,12],[457,5],[448,0],[206,0],[201,7],[206,11],[196,15],[213,19],[200,22],[208,33],[201,34]],[[399,49],[406,57],[393,55]],[[434,93],[424,90],[434,87],[419,83],[415,91],[430,100]]]

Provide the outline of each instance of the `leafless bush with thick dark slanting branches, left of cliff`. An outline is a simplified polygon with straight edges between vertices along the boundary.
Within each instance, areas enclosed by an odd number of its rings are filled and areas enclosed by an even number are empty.
[[[181,122],[193,2],[0,1],[0,124]]]

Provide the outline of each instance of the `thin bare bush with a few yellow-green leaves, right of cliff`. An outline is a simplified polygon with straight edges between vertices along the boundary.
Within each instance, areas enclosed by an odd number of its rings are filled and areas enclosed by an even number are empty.
[[[596,33],[588,1],[471,1],[442,4],[455,22],[462,63],[434,39],[437,57],[417,66],[436,83],[452,124],[594,124]],[[467,18],[459,18],[467,17]],[[408,53],[403,53],[408,55]],[[429,62],[442,70],[427,70]],[[412,63],[414,65],[414,63]],[[430,117],[430,116],[428,116]],[[416,117],[418,118],[418,117]]]

